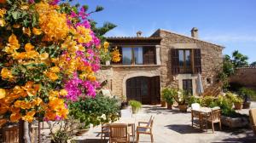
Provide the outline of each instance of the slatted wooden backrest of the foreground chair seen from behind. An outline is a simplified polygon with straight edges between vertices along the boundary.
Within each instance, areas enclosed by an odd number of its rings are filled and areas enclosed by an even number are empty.
[[[128,124],[127,123],[111,123],[110,138],[124,139],[128,137]]]

